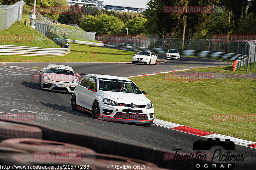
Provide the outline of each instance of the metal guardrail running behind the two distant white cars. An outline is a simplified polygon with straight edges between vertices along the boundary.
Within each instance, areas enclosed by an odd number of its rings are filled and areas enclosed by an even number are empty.
[[[126,51],[153,51],[154,53],[167,53],[169,49],[165,48],[143,48],[143,47],[132,47],[132,46],[114,46],[114,45],[104,45],[105,48],[114,48]],[[199,57],[212,57],[212,58],[223,58],[228,60],[236,60],[236,68],[246,65],[248,56],[234,53],[223,53],[223,52],[213,52],[213,51],[193,51],[193,50],[177,50],[180,55],[190,55]]]

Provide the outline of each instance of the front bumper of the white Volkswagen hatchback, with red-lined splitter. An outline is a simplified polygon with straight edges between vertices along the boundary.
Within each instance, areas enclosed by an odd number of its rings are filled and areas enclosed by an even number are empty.
[[[98,119],[150,125],[154,124],[154,108],[111,106],[100,102],[100,116]]]

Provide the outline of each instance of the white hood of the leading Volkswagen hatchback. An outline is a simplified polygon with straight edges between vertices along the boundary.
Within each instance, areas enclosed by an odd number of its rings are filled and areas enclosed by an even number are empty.
[[[147,105],[150,100],[144,94],[133,94],[126,92],[110,92],[110,91],[100,91],[100,94],[105,98],[114,100],[117,103],[125,104],[135,104],[135,105]]]

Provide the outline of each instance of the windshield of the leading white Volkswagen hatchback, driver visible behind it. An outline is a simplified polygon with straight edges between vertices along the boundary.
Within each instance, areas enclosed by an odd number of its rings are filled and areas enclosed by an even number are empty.
[[[100,78],[99,82],[100,90],[103,91],[142,94],[140,89],[132,81]]]

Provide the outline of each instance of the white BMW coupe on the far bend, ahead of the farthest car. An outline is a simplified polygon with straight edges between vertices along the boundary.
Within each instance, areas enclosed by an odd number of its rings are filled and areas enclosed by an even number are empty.
[[[139,51],[132,57],[133,64],[156,64],[157,56],[152,51]]]

